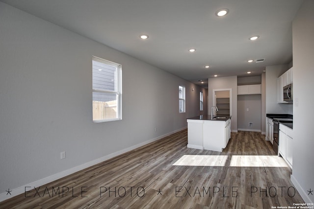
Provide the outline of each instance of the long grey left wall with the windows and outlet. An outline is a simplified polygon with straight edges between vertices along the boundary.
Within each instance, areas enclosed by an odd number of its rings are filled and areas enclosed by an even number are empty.
[[[200,114],[205,89],[2,2],[0,37],[0,192],[159,139]],[[93,55],[122,65],[123,120],[92,122]]]

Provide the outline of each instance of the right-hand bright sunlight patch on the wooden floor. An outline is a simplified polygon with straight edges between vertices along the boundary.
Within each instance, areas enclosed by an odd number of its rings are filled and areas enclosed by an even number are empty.
[[[230,166],[234,167],[288,167],[278,156],[272,155],[233,155]]]

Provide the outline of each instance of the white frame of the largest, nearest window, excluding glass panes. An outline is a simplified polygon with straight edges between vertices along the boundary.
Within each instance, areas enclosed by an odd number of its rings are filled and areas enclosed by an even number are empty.
[[[96,56],[92,56],[92,66],[93,62],[100,62],[105,65],[115,67],[116,72],[115,72],[115,78],[114,78],[114,90],[97,90],[93,88],[93,78],[92,78],[92,94],[93,93],[104,93],[104,94],[115,94],[117,98],[117,117],[115,118],[109,118],[109,119],[98,119],[94,120],[92,116],[92,121],[93,123],[99,123],[99,122],[109,122],[109,121],[116,121],[116,120],[122,120],[122,65],[111,62],[109,60],[105,60]],[[93,68],[92,68],[92,77],[93,77]],[[93,99],[92,99],[93,100]],[[93,110],[92,110],[93,111]]]

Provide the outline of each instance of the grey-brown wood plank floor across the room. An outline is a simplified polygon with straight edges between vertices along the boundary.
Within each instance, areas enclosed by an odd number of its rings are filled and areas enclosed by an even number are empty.
[[[0,208],[270,209],[303,203],[291,169],[257,132],[223,152],[186,147],[187,130],[0,203]]]

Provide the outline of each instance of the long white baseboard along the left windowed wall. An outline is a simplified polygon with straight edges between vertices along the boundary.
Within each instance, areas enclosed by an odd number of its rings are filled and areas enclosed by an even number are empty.
[[[61,179],[61,178],[65,177],[65,176],[68,176],[68,175],[70,175],[70,174],[73,174],[73,173],[75,173],[75,172],[78,172],[78,171],[80,171],[80,170],[83,170],[83,169],[88,168],[88,167],[90,167],[90,166],[96,165],[96,164],[98,164],[98,163],[102,163],[102,162],[104,162],[104,161],[106,161],[106,160],[109,160],[110,158],[116,157],[116,156],[118,156],[118,155],[124,154],[124,153],[129,152],[129,151],[131,151],[131,150],[133,150],[133,149],[136,149],[136,148],[138,148],[138,147],[141,147],[141,146],[144,146],[144,145],[149,144],[149,143],[151,143],[151,142],[157,141],[157,140],[162,139],[162,138],[164,138],[164,137],[167,137],[167,136],[169,136],[169,135],[171,135],[171,134],[174,134],[174,133],[177,133],[177,132],[179,132],[179,131],[182,131],[182,130],[184,130],[184,129],[186,129],[186,128],[187,128],[187,127],[184,127],[184,128],[178,129],[178,130],[176,130],[176,131],[172,131],[172,132],[170,132],[170,133],[161,135],[161,136],[159,136],[159,137],[157,137],[157,138],[144,141],[144,142],[142,142],[142,143],[139,143],[139,144],[136,144],[136,145],[134,145],[134,146],[128,147],[128,148],[126,148],[126,149],[123,149],[123,150],[120,150],[120,151],[111,153],[111,154],[109,154],[109,155],[106,155],[106,156],[104,156],[104,157],[98,158],[98,159],[96,159],[96,160],[93,160],[93,161],[90,161],[90,162],[87,162],[87,163],[83,163],[83,164],[78,165],[78,166],[76,166],[76,167],[73,167],[73,168],[70,168],[70,169],[61,171],[61,172],[59,172],[59,173],[53,174],[53,175],[51,175],[51,176],[48,176],[48,177],[46,177],[46,178],[43,178],[43,179],[37,180],[37,181],[35,181],[35,182],[29,183],[29,184],[27,184],[27,185],[20,186],[20,187],[18,187],[18,188],[14,188],[14,189],[8,189],[8,190],[10,190],[10,194],[11,194],[11,195],[7,195],[7,191],[4,192],[4,193],[1,193],[1,194],[0,194],[0,202],[2,202],[2,201],[4,201],[4,200],[7,200],[7,199],[9,199],[9,198],[11,198],[11,197],[17,196],[17,195],[19,195],[19,194],[25,193],[25,189],[28,188],[28,186],[30,187],[30,189],[33,189],[34,187],[37,188],[38,186],[46,185],[46,184],[48,184],[48,183],[50,183],[50,182],[53,182],[53,181],[58,180],[58,179]],[[28,191],[28,189],[27,189],[27,191]]]

